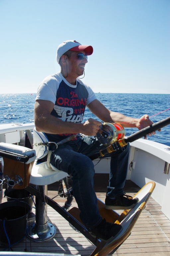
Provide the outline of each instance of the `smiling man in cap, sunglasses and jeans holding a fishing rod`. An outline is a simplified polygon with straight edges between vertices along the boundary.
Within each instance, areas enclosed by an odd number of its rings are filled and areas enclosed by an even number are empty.
[[[92,46],[81,45],[73,40],[58,46],[57,62],[61,72],[46,77],[38,88],[35,125],[37,131],[44,132],[49,141],[59,142],[75,135],[74,139],[68,139],[57,149],[52,148],[50,162],[59,170],[71,174],[73,194],[81,211],[80,218],[91,235],[110,241],[119,234],[122,227],[102,220],[97,208],[93,189],[95,171],[89,156],[106,146],[101,145],[96,137],[90,137],[96,135],[101,122],[92,118],[83,122],[85,107],[104,122],[124,123],[125,127],[137,127],[139,130],[151,125],[152,121],[148,115],[136,119],[110,111],[97,100],[92,89],[78,78],[83,75],[87,56],[92,53]],[[89,137],[81,137],[79,134]],[[128,154],[127,145],[110,155],[110,180],[105,200],[107,209],[129,209],[138,202],[138,198],[125,196],[123,190]]]

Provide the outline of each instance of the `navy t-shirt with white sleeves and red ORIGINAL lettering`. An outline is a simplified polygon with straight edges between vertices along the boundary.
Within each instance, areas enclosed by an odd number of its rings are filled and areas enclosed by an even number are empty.
[[[40,84],[36,100],[48,100],[53,102],[54,108],[51,115],[64,122],[81,123],[84,117],[85,107],[97,99],[92,89],[77,78],[77,84],[72,85],[57,73],[47,76]],[[50,139],[49,134],[46,134]],[[60,134],[57,141],[72,134]],[[58,138],[60,136],[60,138]]]

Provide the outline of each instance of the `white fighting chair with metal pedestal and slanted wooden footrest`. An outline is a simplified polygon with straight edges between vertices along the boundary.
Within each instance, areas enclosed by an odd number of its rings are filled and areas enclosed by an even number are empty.
[[[36,197],[36,220],[35,223],[30,227],[28,236],[34,241],[46,241],[55,235],[55,226],[47,221],[47,205],[49,205],[69,223],[71,223],[78,231],[80,231],[86,238],[88,238],[94,245],[96,245],[96,249],[93,251],[91,256],[104,256],[108,255],[110,252],[115,252],[130,235],[137,218],[151,196],[155,183],[152,181],[148,182],[134,196],[139,198],[137,205],[130,210],[124,210],[122,214],[118,214],[114,210],[105,209],[105,204],[98,200],[98,208],[101,216],[105,218],[106,221],[121,224],[123,229],[121,233],[110,243],[97,240],[90,235],[86,227],[81,222],[79,209],[77,207],[69,209],[71,201],[74,198],[70,183],[68,182],[69,177],[67,177],[67,173],[59,171],[49,163],[49,157],[47,155],[48,153],[50,155],[50,143],[47,137],[44,133],[37,132],[36,130],[34,130],[33,133],[35,149],[33,152],[36,152],[36,159],[34,161],[34,165],[32,166],[27,190]],[[17,151],[18,147],[20,146],[13,145],[12,147],[15,147]],[[1,148],[2,143],[0,143],[0,150]],[[3,149],[4,148],[5,147],[3,147]],[[6,145],[5,150],[10,151],[11,146]],[[47,157],[48,162],[44,161],[45,157]],[[5,169],[6,168],[4,165],[4,173],[6,172]],[[59,180],[62,183],[62,193],[67,199],[64,206],[60,206],[54,200],[50,199],[46,193],[47,185]]]

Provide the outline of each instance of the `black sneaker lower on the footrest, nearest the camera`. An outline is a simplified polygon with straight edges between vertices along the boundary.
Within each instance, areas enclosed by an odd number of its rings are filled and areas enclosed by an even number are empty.
[[[112,241],[123,229],[120,224],[107,222],[105,219],[95,228],[89,229],[92,237],[105,242]]]

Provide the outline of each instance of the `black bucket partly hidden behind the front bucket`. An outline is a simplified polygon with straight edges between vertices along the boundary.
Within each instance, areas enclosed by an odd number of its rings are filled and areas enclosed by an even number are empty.
[[[31,211],[33,208],[33,195],[31,195],[27,190],[25,189],[13,189],[13,190],[8,190],[6,189],[4,191],[4,196],[6,196],[7,201],[14,201],[14,200],[19,200],[26,202],[30,205]]]

